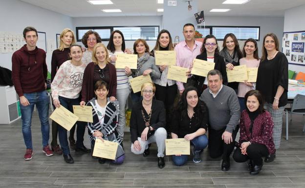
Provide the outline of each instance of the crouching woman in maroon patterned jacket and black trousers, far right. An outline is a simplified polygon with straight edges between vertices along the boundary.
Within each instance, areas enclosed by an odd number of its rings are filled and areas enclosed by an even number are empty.
[[[251,175],[261,171],[262,159],[274,153],[272,131],[273,121],[270,113],[263,108],[261,92],[250,90],[245,95],[245,105],[240,117],[240,142],[233,159],[238,163],[250,160]]]

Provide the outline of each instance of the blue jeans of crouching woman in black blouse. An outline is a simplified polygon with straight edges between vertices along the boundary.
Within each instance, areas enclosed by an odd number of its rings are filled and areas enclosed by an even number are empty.
[[[208,146],[208,137],[204,135],[200,135],[195,137],[193,140],[191,140],[191,145],[194,146],[195,151],[203,150]],[[188,155],[181,155],[181,156],[172,156],[172,161],[174,162],[174,165],[176,166],[182,166],[187,162]]]

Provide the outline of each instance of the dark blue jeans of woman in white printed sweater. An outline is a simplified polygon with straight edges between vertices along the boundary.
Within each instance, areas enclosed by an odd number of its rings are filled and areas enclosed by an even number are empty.
[[[80,104],[79,98],[68,99],[68,98],[59,96],[58,99],[59,99],[59,102],[61,103],[61,105],[64,106],[66,109],[68,109],[72,113],[73,113],[73,105]],[[76,147],[80,148],[80,147],[84,146],[83,142],[84,142],[84,134],[85,134],[85,129],[86,129],[86,122],[77,121],[76,124],[77,124]],[[62,146],[64,155],[70,154],[66,132],[67,132],[67,130],[64,127],[62,127],[61,125],[58,126],[59,143]]]

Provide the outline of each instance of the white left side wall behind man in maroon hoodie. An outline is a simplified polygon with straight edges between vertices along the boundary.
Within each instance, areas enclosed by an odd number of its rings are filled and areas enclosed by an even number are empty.
[[[55,45],[56,33],[60,34],[67,27],[72,28],[70,17],[19,0],[1,0],[0,18],[0,32],[22,34],[25,27],[33,26],[37,31],[45,32],[46,40],[54,40]],[[0,66],[11,69],[12,54],[0,54]],[[47,53],[46,62],[49,71],[51,71],[51,57],[52,53]]]

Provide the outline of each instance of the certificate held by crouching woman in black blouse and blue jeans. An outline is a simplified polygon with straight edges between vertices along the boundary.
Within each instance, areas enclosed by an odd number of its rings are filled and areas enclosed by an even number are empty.
[[[184,138],[166,139],[166,155],[190,155],[190,141]]]

